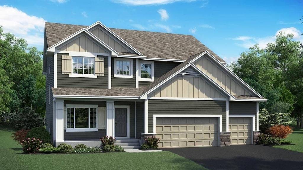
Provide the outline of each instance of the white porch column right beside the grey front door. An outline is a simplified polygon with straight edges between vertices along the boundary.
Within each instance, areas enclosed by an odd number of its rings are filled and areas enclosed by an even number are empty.
[[[106,113],[107,113],[107,127],[106,136],[114,137],[114,126],[115,126],[115,107],[114,101],[106,101]]]

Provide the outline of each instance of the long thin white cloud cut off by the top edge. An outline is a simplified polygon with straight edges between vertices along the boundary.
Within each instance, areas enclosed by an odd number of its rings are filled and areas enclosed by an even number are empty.
[[[174,2],[193,2],[196,0],[112,0],[116,3],[128,4],[128,5],[162,5],[171,4]]]

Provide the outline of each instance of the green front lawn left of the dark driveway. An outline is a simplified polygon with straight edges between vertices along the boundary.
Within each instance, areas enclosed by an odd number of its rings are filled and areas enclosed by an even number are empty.
[[[171,152],[113,152],[96,154],[22,154],[10,138],[13,131],[0,126],[1,169],[206,169]]]

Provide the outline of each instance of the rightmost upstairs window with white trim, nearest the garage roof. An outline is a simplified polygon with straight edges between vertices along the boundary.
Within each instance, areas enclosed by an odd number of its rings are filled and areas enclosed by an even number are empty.
[[[139,81],[154,81],[154,62],[139,61]]]

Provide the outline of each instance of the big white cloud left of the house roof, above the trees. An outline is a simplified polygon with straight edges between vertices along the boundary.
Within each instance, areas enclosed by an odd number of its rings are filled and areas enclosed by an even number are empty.
[[[45,22],[43,18],[27,15],[17,8],[0,6],[0,25],[3,31],[24,38],[28,44],[43,45]]]

